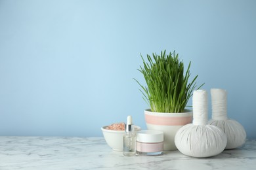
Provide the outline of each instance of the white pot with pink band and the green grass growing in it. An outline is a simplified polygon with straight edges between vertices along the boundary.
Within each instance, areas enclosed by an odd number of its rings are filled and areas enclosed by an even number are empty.
[[[144,110],[146,126],[163,131],[164,150],[177,150],[174,141],[176,132],[192,122],[192,110],[185,107],[196,88],[198,75],[188,82],[191,62],[184,73],[184,63],[179,61],[179,54],[175,52],[165,54],[164,51],[160,55],[152,54],[152,57],[147,55],[147,61],[141,58],[143,66],[139,71],[144,75],[147,86],[136,81],[142,88],[140,92],[144,101],[150,105],[150,109]]]

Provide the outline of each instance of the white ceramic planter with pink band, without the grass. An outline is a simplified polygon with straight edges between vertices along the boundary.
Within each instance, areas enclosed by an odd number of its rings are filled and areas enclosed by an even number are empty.
[[[175,134],[184,125],[192,122],[192,110],[185,112],[151,112],[150,109],[144,110],[146,126],[150,130],[163,131],[164,141],[163,150],[177,150],[175,146]]]

